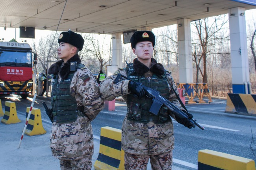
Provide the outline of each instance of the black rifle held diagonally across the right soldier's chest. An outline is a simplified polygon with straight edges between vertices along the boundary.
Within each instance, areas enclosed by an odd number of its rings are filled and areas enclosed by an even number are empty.
[[[130,79],[128,79],[128,77],[126,77],[126,76],[124,76],[124,75],[119,73],[119,74],[117,74],[117,77],[115,78],[114,83],[119,82],[119,79],[121,77],[123,77],[126,80],[130,80]],[[133,81],[133,80],[131,80],[131,81]],[[158,115],[158,112],[159,112],[161,106],[164,105],[169,110],[171,110],[171,112],[173,112],[173,114],[176,117],[178,117],[180,119],[189,119],[191,122],[193,122],[193,126],[192,126],[193,128],[195,128],[195,125],[197,125],[200,129],[204,130],[204,127],[196,122],[197,120],[192,119],[187,112],[183,112],[182,110],[180,110],[180,108],[178,108],[173,103],[171,103],[170,101],[165,99],[157,91],[153,90],[152,88],[148,88],[147,86],[145,86],[142,83],[141,83],[141,86],[145,90],[146,96],[149,97],[149,98],[152,98],[153,103],[152,103],[152,105],[150,107],[150,110],[149,110],[150,113]]]

